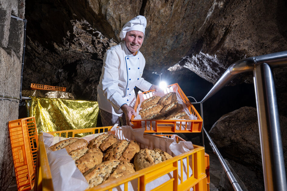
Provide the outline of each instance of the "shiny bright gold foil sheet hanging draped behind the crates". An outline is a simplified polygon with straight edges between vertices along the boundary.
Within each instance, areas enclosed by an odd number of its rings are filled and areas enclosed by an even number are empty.
[[[98,102],[33,96],[31,98],[26,100],[27,112],[28,116],[35,116],[38,133],[97,125]]]

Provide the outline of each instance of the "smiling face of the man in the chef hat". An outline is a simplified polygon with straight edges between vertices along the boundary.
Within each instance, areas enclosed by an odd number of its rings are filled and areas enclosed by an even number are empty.
[[[136,55],[136,51],[139,50],[142,46],[142,42],[144,39],[144,34],[138,30],[131,30],[126,33],[126,47],[128,47],[129,51],[132,55]]]

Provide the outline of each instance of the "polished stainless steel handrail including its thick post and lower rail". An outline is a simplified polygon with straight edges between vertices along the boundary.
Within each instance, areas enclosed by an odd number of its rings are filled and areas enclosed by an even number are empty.
[[[215,85],[206,94],[202,101],[194,102],[192,104],[200,103],[202,108],[203,102],[205,102],[212,95],[222,89],[236,76],[245,72],[253,71],[265,190],[286,190],[287,183],[282,141],[280,136],[281,133],[279,126],[279,114],[277,108],[274,80],[270,66],[287,66],[287,51],[245,58],[243,60],[234,62],[233,64],[231,64],[230,67],[228,67],[222,77],[215,83]],[[212,139],[210,138],[204,127],[203,130],[205,131],[209,141],[212,143],[212,149],[216,152],[219,161],[222,163],[223,168],[225,168],[226,163],[224,159],[218,152],[216,146],[212,142]],[[202,133],[204,132],[202,131]],[[233,174],[227,173],[228,171],[226,171],[226,168],[225,172],[233,186]],[[239,188],[233,188],[234,190],[241,190],[240,186]]]

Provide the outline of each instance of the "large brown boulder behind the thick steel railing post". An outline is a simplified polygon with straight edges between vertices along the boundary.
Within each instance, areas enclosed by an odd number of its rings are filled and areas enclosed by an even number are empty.
[[[287,166],[287,118],[279,117],[284,153]],[[209,135],[224,157],[243,164],[262,179],[262,160],[257,110],[242,107],[223,115],[209,131]]]

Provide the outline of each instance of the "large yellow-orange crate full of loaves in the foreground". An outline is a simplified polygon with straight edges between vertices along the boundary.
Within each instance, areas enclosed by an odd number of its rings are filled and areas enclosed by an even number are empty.
[[[102,133],[110,131],[113,126],[109,127],[94,127],[87,129],[76,129],[76,130],[63,130],[63,131],[54,131],[47,132],[52,135],[63,136],[65,137],[75,137],[78,133]],[[70,135],[70,136],[68,136]],[[153,136],[153,135],[148,135]],[[165,135],[158,135],[165,136]],[[169,135],[167,135],[169,136]],[[112,190],[119,185],[124,185],[124,190],[128,190],[128,182],[132,180],[138,181],[138,189],[140,191],[145,190],[146,184],[151,181],[157,179],[158,177],[163,176],[169,172],[173,172],[173,176],[170,180],[165,183],[162,183],[160,186],[156,187],[153,190],[188,190],[193,188],[194,191],[208,191],[208,187],[206,186],[206,174],[205,174],[205,156],[204,156],[204,147],[193,145],[194,149],[185,152],[181,155],[175,156],[167,161],[158,163],[153,165],[152,167],[148,167],[142,169],[140,171],[136,171],[135,173],[129,174],[126,177],[119,178],[117,180],[113,180],[111,182],[102,183],[94,188],[88,189],[89,191],[97,190]],[[38,157],[40,160],[37,161],[39,165],[37,168],[37,190],[54,190],[52,183],[52,176],[50,172],[50,167],[48,164],[48,159],[46,155],[46,149],[43,142],[43,134],[39,134],[39,149],[38,149]],[[188,176],[186,180],[183,181],[183,160],[187,160],[187,166],[191,167],[192,174]],[[180,161],[180,167],[178,167],[178,161]],[[189,168],[187,168],[189,169]],[[179,173],[181,176],[179,177]],[[189,170],[187,170],[187,174],[189,174]],[[181,183],[179,183],[178,179],[180,178]]]

